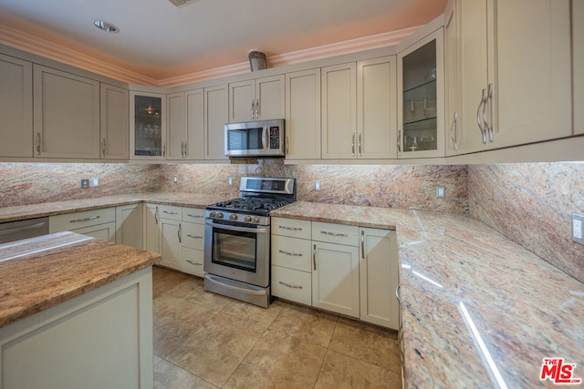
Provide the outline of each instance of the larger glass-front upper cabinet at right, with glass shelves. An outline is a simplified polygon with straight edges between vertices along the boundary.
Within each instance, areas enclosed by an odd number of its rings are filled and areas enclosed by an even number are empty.
[[[398,54],[398,157],[444,156],[443,29]]]

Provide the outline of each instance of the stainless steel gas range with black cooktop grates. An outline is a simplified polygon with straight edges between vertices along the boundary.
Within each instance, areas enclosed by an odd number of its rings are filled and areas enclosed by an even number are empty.
[[[270,210],[296,200],[296,179],[243,177],[242,197],[206,207],[204,289],[267,308]]]

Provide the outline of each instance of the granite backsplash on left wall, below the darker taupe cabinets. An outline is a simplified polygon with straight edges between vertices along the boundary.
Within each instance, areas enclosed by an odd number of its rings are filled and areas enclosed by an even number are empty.
[[[81,179],[99,187],[81,189]],[[0,207],[81,200],[160,189],[158,165],[0,163]]]

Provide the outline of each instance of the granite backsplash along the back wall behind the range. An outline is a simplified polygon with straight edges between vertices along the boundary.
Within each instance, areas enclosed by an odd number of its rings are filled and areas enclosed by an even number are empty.
[[[179,177],[179,183],[172,182]],[[464,212],[468,206],[465,166],[385,165],[284,165],[265,161],[261,165],[162,165],[162,191],[239,196],[242,176],[291,177],[297,179],[297,199],[332,204],[367,205]],[[233,187],[228,178],[235,179]],[[319,180],[322,190],[314,189]],[[445,199],[436,199],[436,186],[446,189]]]

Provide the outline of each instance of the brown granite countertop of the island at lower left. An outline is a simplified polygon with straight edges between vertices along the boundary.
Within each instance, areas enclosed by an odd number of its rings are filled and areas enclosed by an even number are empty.
[[[160,261],[160,254],[74,232],[0,244],[0,327]]]

